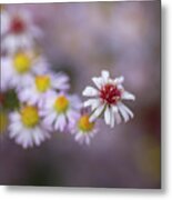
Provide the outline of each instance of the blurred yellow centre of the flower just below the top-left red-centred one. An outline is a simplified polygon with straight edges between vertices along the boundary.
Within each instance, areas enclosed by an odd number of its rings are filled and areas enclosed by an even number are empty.
[[[31,59],[28,54],[19,52],[13,58],[13,67],[19,73],[26,73],[31,68]]]

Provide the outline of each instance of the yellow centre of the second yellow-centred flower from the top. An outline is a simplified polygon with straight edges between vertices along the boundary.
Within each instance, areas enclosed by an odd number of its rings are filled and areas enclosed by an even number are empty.
[[[36,77],[36,86],[39,92],[45,92],[50,88],[50,78],[48,76]]]

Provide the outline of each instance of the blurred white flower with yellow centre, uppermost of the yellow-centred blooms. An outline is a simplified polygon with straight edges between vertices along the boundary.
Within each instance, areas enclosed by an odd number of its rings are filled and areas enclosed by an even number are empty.
[[[47,72],[48,63],[34,52],[19,51],[12,57],[7,57],[1,68],[4,83],[19,89],[28,86],[34,74]]]

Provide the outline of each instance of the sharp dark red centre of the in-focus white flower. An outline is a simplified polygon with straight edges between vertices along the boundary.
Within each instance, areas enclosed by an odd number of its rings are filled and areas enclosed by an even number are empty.
[[[115,104],[121,98],[121,91],[114,84],[105,84],[100,90],[100,98],[108,104]]]

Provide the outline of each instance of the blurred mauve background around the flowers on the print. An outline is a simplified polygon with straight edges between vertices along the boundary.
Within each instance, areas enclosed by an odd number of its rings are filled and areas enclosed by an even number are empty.
[[[71,92],[81,96],[107,69],[124,76],[136,100],[127,102],[134,119],[114,129],[100,122],[90,147],[57,133],[23,150],[1,136],[0,184],[161,188],[160,1],[9,7],[31,12],[44,33],[42,50],[54,70],[70,76]]]

